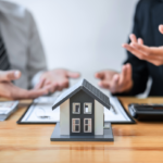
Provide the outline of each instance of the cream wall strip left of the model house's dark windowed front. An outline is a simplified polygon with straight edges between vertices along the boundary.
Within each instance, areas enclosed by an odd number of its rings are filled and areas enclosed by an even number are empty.
[[[60,135],[70,135],[70,99],[60,105]]]

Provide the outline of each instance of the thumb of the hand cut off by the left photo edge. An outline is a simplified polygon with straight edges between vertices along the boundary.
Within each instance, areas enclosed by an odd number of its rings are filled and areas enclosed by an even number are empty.
[[[0,82],[11,82],[21,77],[20,71],[0,71]]]

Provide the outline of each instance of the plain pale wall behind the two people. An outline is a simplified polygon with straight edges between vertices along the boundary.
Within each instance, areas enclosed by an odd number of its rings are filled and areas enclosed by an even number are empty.
[[[126,59],[122,43],[131,33],[138,0],[10,1],[33,13],[49,68],[80,72],[95,86],[97,71],[121,71]]]

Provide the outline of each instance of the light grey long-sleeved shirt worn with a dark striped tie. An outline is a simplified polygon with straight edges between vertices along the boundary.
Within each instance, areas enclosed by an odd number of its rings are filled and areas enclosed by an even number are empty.
[[[24,7],[0,0],[0,30],[11,68],[22,72],[15,85],[34,87],[47,64],[33,15]]]

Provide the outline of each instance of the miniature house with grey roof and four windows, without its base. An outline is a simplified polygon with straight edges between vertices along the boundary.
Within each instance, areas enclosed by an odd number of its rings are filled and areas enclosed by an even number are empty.
[[[110,109],[110,101],[103,92],[86,79],[82,79],[63,92],[52,109],[58,106],[60,106],[60,126],[58,127],[60,127],[61,137],[95,138],[95,136],[104,135],[103,111],[104,106]]]

